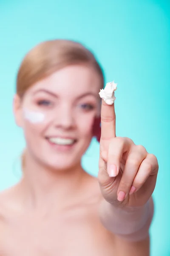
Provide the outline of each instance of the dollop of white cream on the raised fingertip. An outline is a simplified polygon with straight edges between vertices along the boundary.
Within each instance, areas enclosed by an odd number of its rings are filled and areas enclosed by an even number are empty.
[[[113,105],[116,97],[114,96],[114,92],[117,89],[117,84],[113,82],[109,82],[106,84],[105,89],[100,90],[99,96],[102,98],[106,104]]]

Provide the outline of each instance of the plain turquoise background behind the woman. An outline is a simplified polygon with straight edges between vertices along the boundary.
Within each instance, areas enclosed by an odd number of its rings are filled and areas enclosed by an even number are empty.
[[[68,38],[92,49],[106,81],[118,83],[117,136],[142,144],[159,160],[151,255],[170,256],[170,1],[0,0],[0,189],[20,178],[22,131],[14,124],[17,68],[40,41]],[[93,140],[83,166],[97,175]]]

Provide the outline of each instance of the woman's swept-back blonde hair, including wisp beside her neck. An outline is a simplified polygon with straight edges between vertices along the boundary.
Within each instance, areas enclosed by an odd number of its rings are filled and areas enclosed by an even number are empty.
[[[93,67],[101,78],[101,88],[104,87],[102,68],[93,53],[78,42],[58,39],[42,42],[26,54],[17,73],[17,95],[23,98],[26,90],[37,81],[74,64]],[[21,156],[22,169],[25,166],[25,154],[26,150]]]

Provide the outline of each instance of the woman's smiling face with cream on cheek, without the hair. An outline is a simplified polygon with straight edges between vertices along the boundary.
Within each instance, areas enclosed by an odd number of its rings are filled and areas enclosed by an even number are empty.
[[[15,97],[16,122],[31,157],[54,169],[80,162],[100,112],[100,84],[93,68],[74,65],[34,84],[19,104]]]

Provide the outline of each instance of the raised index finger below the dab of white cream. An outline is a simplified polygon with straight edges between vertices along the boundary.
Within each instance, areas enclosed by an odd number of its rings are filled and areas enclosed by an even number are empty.
[[[110,140],[116,137],[116,114],[114,103],[108,105],[102,99],[101,108],[101,140]]]

